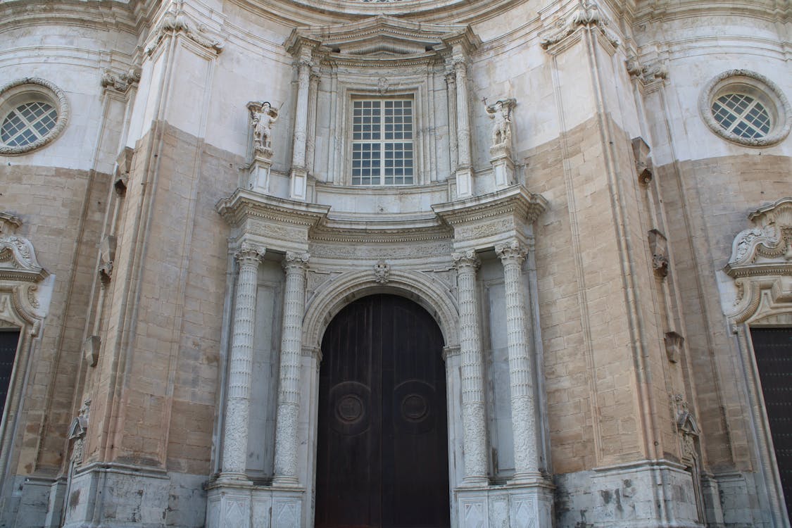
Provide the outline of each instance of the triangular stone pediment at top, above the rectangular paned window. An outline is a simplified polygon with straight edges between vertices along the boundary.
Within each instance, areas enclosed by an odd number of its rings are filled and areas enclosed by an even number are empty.
[[[472,51],[481,40],[469,25],[425,24],[399,18],[378,16],[351,24],[296,28],[284,46],[297,55],[299,47],[323,51],[333,58],[403,59],[421,55],[436,55],[462,44]]]

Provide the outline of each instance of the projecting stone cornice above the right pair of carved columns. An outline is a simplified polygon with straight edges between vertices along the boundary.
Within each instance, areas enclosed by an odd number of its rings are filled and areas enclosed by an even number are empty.
[[[528,192],[520,184],[482,196],[432,205],[432,211],[451,226],[503,215],[518,215],[530,224],[546,208],[547,200],[543,196]]]

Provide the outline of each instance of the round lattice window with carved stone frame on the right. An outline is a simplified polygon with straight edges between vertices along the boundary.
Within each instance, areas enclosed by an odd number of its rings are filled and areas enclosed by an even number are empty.
[[[792,108],[781,89],[749,70],[725,71],[708,82],[699,110],[715,134],[745,146],[775,145],[792,127]]]

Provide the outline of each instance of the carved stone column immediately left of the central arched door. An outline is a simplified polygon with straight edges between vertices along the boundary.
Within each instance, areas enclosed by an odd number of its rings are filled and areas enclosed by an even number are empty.
[[[286,253],[284,322],[280,340],[278,415],[275,429],[273,484],[295,485],[297,478],[297,419],[299,416],[299,363],[305,311],[305,269],[308,253]]]

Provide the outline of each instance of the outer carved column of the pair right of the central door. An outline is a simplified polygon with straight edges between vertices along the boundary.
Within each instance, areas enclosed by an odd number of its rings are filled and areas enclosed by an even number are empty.
[[[514,480],[541,477],[536,435],[536,394],[531,363],[531,345],[526,317],[522,266],[527,250],[517,241],[496,245],[501,257],[506,290],[506,344],[508,345],[509,389],[512,394],[514,435]]]

